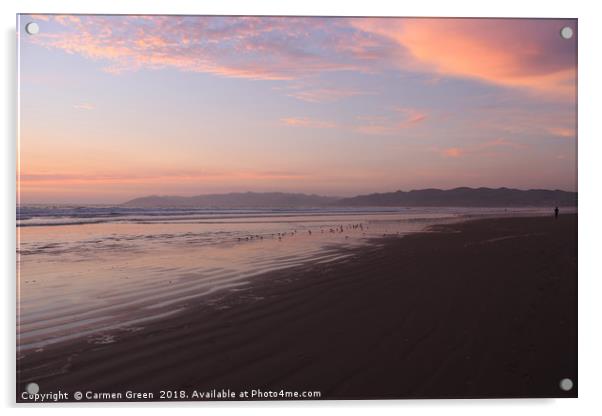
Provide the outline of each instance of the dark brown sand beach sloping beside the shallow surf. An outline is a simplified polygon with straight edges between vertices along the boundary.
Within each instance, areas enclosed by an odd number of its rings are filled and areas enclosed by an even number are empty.
[[[28,354],[17,362],[17,400],[30,381],[41,393],[155,399],[222,388],[322,399],[576,397],[577,216],[433,231],[267,273],[100,343]],[[569,392],[559,388],[566,377]]]

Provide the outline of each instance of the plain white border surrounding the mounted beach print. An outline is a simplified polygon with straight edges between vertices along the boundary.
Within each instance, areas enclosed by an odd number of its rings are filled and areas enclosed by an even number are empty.
[[[271,403],[169,403],[141,404],[144,412],[161,414],[166,407],[191,410],[195,413],[223,410],[244,411],[250,414],[266,412],[321,414],[341,411],[364,414],[366,411],[395,413],[419,411],[424,414],[466,415],[484,412],[491,415],[526,413],[563,415],[600,412],[598,389],[601,386],[602,337],[602,273],[598,233],[602,230],[602,131],[599,116],[600,74],[602,74],[600,45],[602,15],[594,1],[548,0],[527,2],[505,0],[498,2],[469,0],[420,0],[394,2],[386,0],[3,0],[2,13],[2,203],[0,256],[4,283],[4,317],[2,319],[2,353],[4,369],[0,379],[0,394],[5,407],[14,410],[14,311],[15,311],[15,154],[16,154],[16,48],[15,15],[22,13],[152,13],[152,14],[261,14],[261,15],[348,15],[348,16],[471,16],[471,17],[576,17],[579,18],[579,399],[564,400],[422,400],[422,401],[349,401],[349,402],[271,402]],[[400,377],[404,377],[400,374]],[[31,411],[32,406],[19,406]],[[85,412],[117,410],[123,404],[93,404]],[[46,406],[44,411],[80,413],[73,405]],[[600,413],[598,413],[600,414]]]

